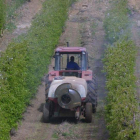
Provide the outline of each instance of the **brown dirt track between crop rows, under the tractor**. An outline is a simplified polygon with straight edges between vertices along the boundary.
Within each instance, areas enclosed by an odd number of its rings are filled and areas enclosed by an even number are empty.
[[[83,46],[89,53],[90,67],[98,81],[98,108],[93,114],[93,122],[80,119],[75,124],[72,119],[53,119],[42,123],[42,107],[45,103],[44,82],[23,115],[23,120],[11,140],[107,140],[108,133],[104,120],[105,76],[102,73],[102,57],[105,49],[103,18],[108,8],[108,0],[79,0],[72,5],[65,32],[59,45]]]

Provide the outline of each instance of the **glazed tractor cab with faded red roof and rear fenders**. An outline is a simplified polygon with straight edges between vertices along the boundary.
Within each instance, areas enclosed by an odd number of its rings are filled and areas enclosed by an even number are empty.
[[[71,57],[78,68],[69,68]],[[58,47],[55,50],[54,70],[49,72],[49,81],[56,76],[75,76],[85,80],[92,79],[92,71],[88,70],[88,53],[83,47]]]

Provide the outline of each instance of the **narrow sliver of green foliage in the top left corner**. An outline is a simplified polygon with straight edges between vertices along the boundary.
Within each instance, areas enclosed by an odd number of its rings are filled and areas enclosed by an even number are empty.
[[[5,23],[5,0],[0,0],[0,31]]]

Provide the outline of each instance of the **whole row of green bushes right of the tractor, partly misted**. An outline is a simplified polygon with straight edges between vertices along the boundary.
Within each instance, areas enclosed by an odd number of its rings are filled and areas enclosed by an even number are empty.
[[[119,8],[118,8],[119,7]],[[134,75],[136,46],[128,29],[127,0],[113,0],[104,21],[108,46],[104,64],[110,140],[139,140],[138,101]]]

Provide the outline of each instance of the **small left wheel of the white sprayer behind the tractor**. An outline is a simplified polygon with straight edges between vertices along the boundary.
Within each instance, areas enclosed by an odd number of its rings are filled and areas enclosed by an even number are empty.
[[[50,122],[50,103],[49,102],[46,102],[44,107],[43,107],[43,122],[44,123],[49,123]]]

